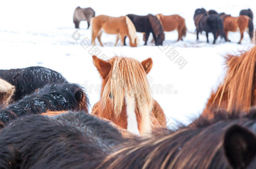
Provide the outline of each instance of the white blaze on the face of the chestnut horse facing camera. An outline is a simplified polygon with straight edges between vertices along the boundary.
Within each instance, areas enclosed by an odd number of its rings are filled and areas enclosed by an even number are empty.
[[[138,131],[138,123],[135,114],[135,100],[132,96],[126,93],[125,102],[127,108],[127,130],[133,134],[140,135]]]

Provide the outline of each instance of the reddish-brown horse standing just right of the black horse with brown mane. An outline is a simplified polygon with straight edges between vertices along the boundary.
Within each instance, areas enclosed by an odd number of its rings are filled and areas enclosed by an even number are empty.
[[[162,15],[157,14],[157,19],[160,20],[162,23],[162,26],[164,28],[164,31],[170,32],[172,30],[178,31],[178,40],[183,40],[182,37],[186,36],[186,25],[185,25],[185,19],[182,18],[180,15]]]

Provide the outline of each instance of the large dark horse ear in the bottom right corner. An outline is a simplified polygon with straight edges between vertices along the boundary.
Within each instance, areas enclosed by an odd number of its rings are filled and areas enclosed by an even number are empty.
[[[256,156],[256,137],[248,129],[234,125],[225,133],[224,151],[233,168],[246,168]]]

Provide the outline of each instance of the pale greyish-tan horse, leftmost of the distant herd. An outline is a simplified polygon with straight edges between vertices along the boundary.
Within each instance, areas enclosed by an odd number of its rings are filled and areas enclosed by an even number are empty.
[[[73,22],[75,24],[75,28],[79,28],[80,21],[86,20],[87,21],[87,29],[90,26],[90,20],[92,17],[95,16],[95,12],[91,8],[80,8],[79,6],[75,9],[73,15]]]

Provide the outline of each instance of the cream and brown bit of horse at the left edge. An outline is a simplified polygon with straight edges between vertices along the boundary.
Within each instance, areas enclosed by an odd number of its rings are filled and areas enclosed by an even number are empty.
[[[14,91],[13,85],[0,78],[0,106],[10,101]]]

